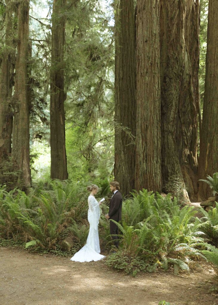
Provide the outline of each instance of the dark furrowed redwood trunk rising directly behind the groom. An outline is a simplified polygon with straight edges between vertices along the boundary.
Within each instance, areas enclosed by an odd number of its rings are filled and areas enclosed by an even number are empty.
[[[115,13],[115,162],[121,192],[135,188],[136,101],[135,17],[133,0],[120,0]]]

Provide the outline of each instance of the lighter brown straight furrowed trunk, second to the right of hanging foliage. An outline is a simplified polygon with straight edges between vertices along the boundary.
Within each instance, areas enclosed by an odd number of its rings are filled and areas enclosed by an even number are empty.
[[[161,190],[159,0],[136,14],[136,190]]]

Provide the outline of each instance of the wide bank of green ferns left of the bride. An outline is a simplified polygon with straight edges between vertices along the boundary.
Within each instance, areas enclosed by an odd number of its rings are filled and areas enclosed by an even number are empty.
[[[84,243],[88,228],[80,224],[87,217],[85,188],[73,182],[52,180],[47,189],[6,192],[0,188],[0,234],[22,239],[26,247],[40,245],[55,249],[64,236]]]

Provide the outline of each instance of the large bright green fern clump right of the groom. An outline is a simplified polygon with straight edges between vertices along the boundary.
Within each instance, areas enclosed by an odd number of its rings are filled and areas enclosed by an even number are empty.
[[[121,250],[127,257],[140,257],[151,265],[157,263],[165,270],[174,266],[188,270],[189,257],[204,257],[194,245],[204,241],[202,221],[195,217],[193,206],[181,208],[171,195],[140,191],[123,203],[120,230]],[[110,260],[110,259],[109,259]]]

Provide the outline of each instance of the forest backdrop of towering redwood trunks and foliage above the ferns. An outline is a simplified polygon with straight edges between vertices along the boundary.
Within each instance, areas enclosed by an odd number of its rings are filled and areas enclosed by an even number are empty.
[[[208,1],[1,2],[1,183],[114,177],[124,196],[212,196],[199,181],[218,171],[210,5],[208,27]]]

